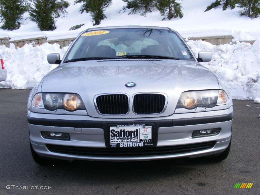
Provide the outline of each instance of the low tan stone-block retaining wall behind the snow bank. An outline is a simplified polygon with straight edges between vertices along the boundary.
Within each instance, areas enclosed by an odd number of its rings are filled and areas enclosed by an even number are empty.
[[[47,38],[44,37],[36,37],[36,38],[28,38],[28,39],[21,39],[21,40],[13,40],[10,41],[9,37],[0,37],[0,45],[5,45],[6,47],[9,47],[10,43],[14,43],[15,47],[23,47],[25,44],[33,43],[34,42],[34,47],[37,45],[41,45],[43,43],[58,43],[61,48],[68,46],[75,37],[72,38],[65,38],[65,39],[57,39],[57,40],[48,40]],[[189,37],[189,40],[203,40],[206,42],[209,42],[213,45],[221,45],[221,44],[229,44],[233,43],[236,44],[236,41],[232,42],[232,35],[225,35],[225,36],[209,36],[209,37]],[[255,40],[252,41],[239,41],[239,42],[247,42],[253,44]]]

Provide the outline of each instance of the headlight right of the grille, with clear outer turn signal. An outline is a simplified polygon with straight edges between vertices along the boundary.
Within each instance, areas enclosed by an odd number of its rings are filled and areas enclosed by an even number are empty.
[[[223,90],[203,90],[183,92],[176,108],[194,109],[197,107],[212,108],[217,105],[228,104],[229,99]]]

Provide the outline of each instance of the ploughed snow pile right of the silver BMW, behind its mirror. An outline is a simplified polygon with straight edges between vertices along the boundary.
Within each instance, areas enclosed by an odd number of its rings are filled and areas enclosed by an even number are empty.
[[[213,46],[204,41],[188,41],[192,51],[211,51],[212,61],[201,63],[212,70],[227,86],[233,97],[260,97],[260,38],[253,44]]]

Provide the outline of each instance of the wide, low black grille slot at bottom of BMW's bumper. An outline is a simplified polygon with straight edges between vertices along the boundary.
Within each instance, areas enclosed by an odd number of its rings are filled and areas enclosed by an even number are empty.
[[[210,149],[216,144],[215,141],[202,142],[196,144],[186,144],[178,146],[163,146],[151,148],[93,148],[93,147],[75,147],[61,145],[46,145],[51,152],[71,155],[84,155],[95,157],[138,157],[153,155],[181,154]]]

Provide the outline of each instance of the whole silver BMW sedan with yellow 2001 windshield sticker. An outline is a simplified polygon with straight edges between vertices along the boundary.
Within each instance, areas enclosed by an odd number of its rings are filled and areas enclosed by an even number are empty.
[[[138,161],[230,150],[232,99],[174,30],[121,26],[81,32],[30,92],[28,125],[36,163]]]

